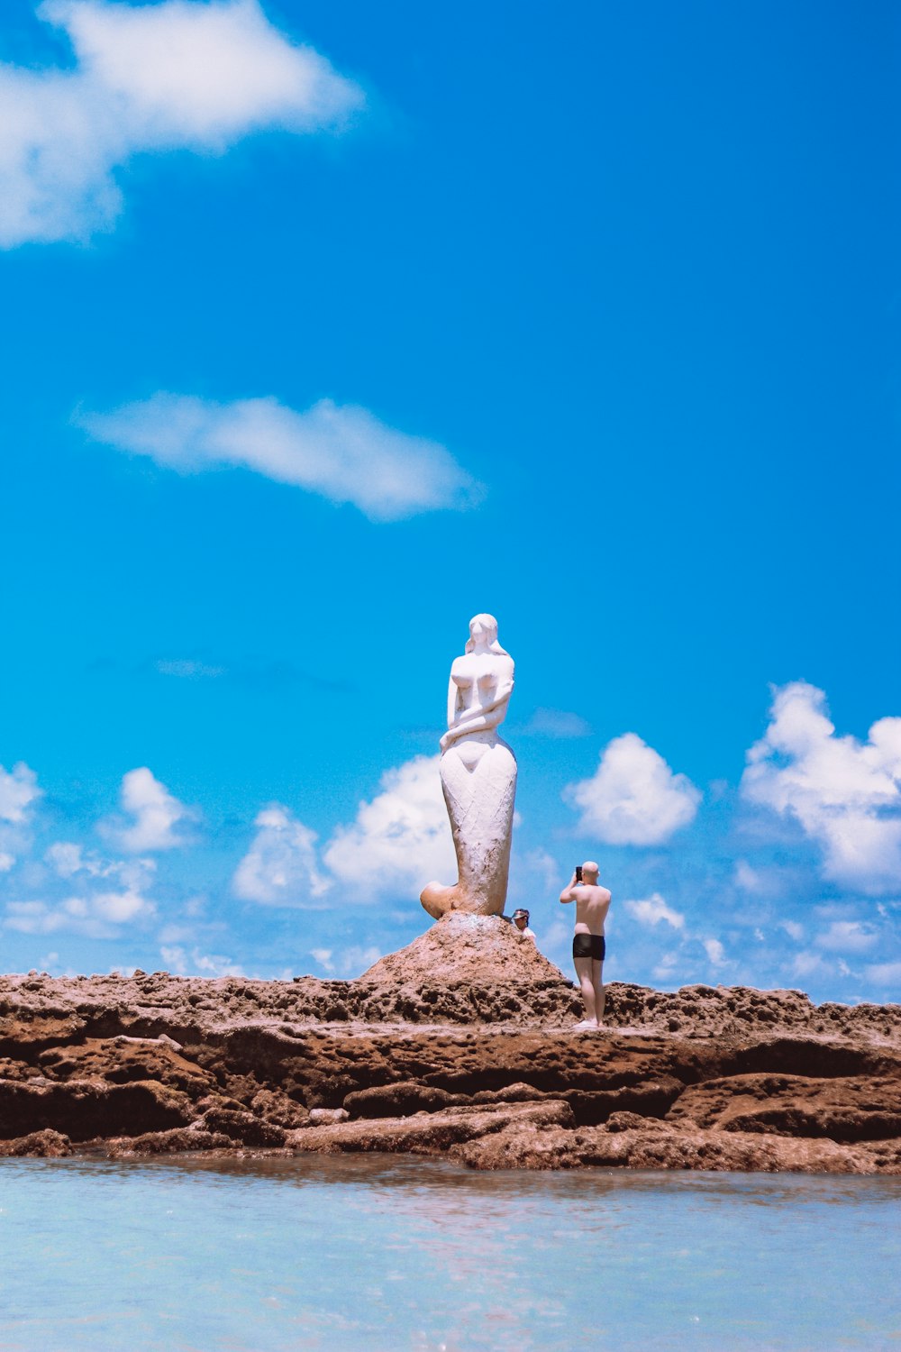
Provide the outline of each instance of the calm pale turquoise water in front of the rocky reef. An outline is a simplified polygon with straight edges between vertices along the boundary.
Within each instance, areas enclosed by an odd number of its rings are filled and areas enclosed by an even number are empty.
[[[0,1161],[4,1352],[901,1348],[901,1179]]]

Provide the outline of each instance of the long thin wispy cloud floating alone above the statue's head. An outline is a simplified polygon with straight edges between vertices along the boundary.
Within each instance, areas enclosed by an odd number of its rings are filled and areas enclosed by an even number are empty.
[[[216,404],[161,392],[111,414],[78,412],[76,422],[96,441],[181,473],[251,469],[332,503],[353,503],[371,521],[462,510],[482,496],[444,446],[331,399],[296,412],[273,397]]]

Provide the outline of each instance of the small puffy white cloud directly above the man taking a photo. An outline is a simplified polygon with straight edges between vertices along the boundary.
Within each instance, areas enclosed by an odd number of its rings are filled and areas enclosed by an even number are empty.
[[[594,775],[567,786],[563,798],[581,810],[585,834],[608,845],[659,845],[693,821],[701,794],[640,737],[625,733],[608,742]]]

